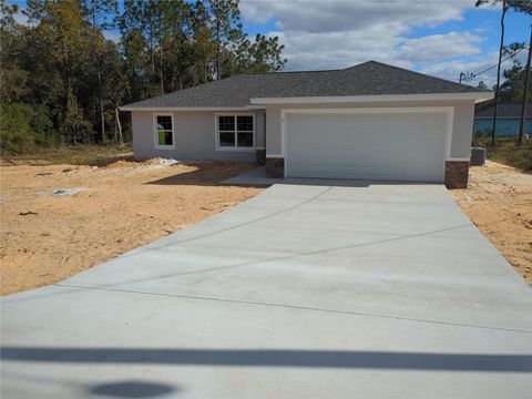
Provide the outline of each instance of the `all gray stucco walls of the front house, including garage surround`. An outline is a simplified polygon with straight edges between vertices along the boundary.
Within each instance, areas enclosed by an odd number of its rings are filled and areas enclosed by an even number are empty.
[[[420,108],[453,106],[453,132],[451,157],[470,154],[474,116],[473,101],[387,102],[387,103],[339,103],[339,104],[279,104],[257,110],[255,114],[255,146],[264,147],[264,119],[266,117],[266,154],[280,155],[280,110],[323,108]],[[136,158],[172,157],[176,160],[243,160],[254,161],[255,151],[216,151],[215,112],[173,112],[175,150],[157,150],[154,145],[153,112],[132,112],[133,150]]]

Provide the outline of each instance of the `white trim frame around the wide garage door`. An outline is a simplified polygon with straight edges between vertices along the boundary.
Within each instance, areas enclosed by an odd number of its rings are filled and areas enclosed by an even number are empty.
[[[444,113],[446,121],[446,145],[443,154],[442,176],[444,181],[446,162],[451,158],[451,143],[454,123],[454,106],[401,106],[401,108],[347,108],[347,109],[282,109],[280,110],[280,156],[285,158],[285,177],[288,176],[287,162],[287,119],[285,114],[382,114],[382,113]],[[274,157],[266,154],[266,157]],[[469,160],[469,158],[468,158]]]

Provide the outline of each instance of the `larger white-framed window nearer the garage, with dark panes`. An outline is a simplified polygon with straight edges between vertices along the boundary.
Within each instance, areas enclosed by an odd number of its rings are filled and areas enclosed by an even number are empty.
[[[253,115],[216,115],[218,150],[253,150]]]

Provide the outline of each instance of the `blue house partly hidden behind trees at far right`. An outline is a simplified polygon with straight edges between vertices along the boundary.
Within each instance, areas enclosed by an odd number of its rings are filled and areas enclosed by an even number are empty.
[[[524,112],[524,134],[532,134],[532,104]],[[497,135],[512,137],[519,133],[521,104],[499,104],[497,108]],[[473,133],[475,136],[490,135],[493,132],[493,106],[474,113]]]

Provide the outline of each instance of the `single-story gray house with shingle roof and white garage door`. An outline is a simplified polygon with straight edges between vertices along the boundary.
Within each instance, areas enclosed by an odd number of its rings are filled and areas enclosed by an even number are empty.
[[[385,63],[245,73],[125,106],[135,157],[257,160],[269,176],[468,182],[493,93]]]

